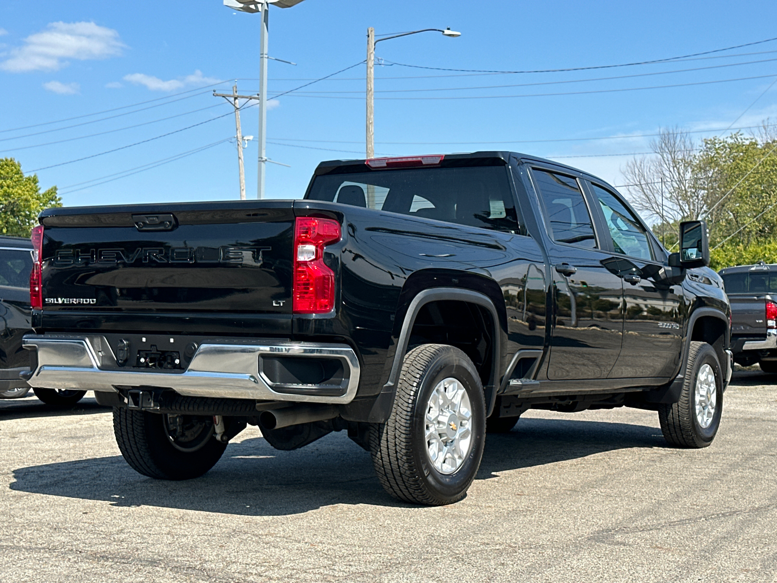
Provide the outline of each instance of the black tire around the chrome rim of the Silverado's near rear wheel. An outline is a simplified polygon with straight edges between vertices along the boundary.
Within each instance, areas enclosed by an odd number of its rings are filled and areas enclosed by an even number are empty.
[[[455,379],[469,397],[472,432],[469,452],[452,473],[434,467],[426,438],[427,404],[435,386]],[[459,427],[464,427],[462,421]],[[452,431],[458,431],[455,424]],[[446,430],[447,431],[447,430]],[[406,354],[389,420],[372,424],[368,433],[372,462],[385,490],[399,500],[439,506],[465,497],[483,458],[486,405],[472,361],[458,348],[423,344]]]

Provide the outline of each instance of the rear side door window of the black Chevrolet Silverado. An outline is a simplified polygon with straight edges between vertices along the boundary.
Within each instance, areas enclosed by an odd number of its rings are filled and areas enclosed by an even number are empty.
[[[596,248],[594,226],[577,180],[548,170],[533,169],[551,236],[559,243]]]

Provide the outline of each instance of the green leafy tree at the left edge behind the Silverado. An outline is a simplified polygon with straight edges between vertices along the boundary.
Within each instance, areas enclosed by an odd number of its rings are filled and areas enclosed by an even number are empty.
[[[37,175],[24,176],[19,162],[0,158],[0,234],[29,237],[40,211],[61,206],[57,187],[40,192]]]

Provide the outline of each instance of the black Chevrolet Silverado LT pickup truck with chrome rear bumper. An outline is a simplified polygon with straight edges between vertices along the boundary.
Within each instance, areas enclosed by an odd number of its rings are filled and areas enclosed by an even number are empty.
[[[668,255],[614,188],[513,152],[322,162],[303,200],[55,208],[29,382],[94,390],[124,458],[182,480],[260,427],[347,431],[385,489],[465,496],[531,408],[656,410],[700,448],[730,379],[706,225]]]

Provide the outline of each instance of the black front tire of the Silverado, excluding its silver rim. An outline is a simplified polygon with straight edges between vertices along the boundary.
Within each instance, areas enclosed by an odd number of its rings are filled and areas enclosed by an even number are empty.
[[[715,378],[716,405],[709,427],[699,424],[696,416],[695,391],[699,382],[699,369],[709,365]],[[713,442],[720,427],[723,414],[723,372],[718,356],[706,342],[692,342],[685,364],[685,382],[678,403],[662,404],[658,409],[658,420],[664,438],[671,445],[682,448],[704,448]]]

